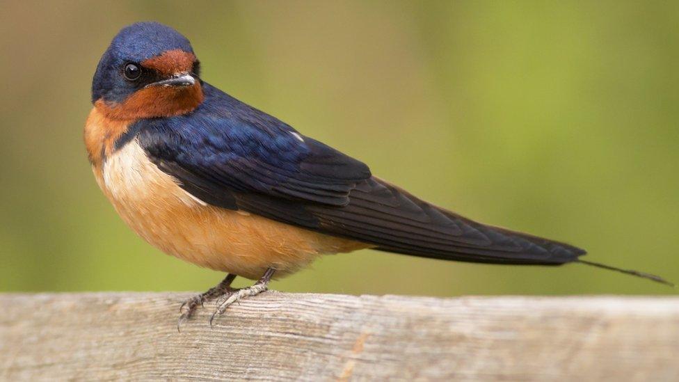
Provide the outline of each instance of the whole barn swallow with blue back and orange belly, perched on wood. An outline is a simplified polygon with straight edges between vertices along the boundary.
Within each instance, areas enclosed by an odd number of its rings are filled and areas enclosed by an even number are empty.
[[[85,143],[97,183],[143,239],[227,273],[180,308],[212,319],[319,255],[372,248],[489,264],[586,262],[585,251],[477,223],[372,175],[368,166],[202,81],[183,35],[122,29],[99,61]],[[251,287],[232,289],[236,276]]]

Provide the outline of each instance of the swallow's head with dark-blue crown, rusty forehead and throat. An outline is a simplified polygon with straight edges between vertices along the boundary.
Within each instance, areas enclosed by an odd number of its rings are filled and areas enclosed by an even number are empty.
[[[179,116],[202,102],[198,59],[191,43],[157,22],[139,22],[115,35],[92,82],[92,102],[120,120]]]

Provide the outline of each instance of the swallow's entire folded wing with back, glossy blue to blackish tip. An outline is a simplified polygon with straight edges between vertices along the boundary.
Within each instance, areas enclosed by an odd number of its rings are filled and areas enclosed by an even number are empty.
[[[424,257],[562,264],[584,250],[490,227],[372,177],[368,167],[204,85],[193,113],[137,122],[148,157],[210,205]]]

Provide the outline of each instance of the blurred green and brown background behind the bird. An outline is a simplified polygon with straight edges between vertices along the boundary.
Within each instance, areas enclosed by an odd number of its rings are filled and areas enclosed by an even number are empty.
[[[678,4],[2,1],[0,290],[203,290],[223,278],[136,237],[90,172],[92,74],[141,20],[184,33],[206,81],[425,200],[678,281]],[[370,250],[273,288],[676,293],[578,264]]]

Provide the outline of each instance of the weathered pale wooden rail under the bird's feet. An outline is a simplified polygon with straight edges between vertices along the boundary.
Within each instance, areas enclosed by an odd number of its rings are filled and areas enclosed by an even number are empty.
[[[0,380],[679,381],[679,299],[0,294]]]

